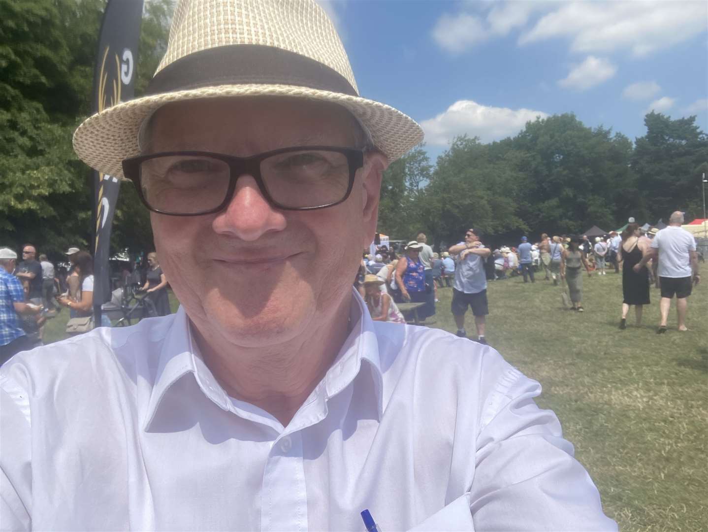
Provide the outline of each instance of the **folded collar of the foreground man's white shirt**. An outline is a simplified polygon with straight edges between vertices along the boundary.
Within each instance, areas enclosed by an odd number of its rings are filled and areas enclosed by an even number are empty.
[[[357,290],[353,289],[352,302],[349,311],[352,329],[334,359],[331,368],[327,370],[323,383],[312,392],[305,404],[319,399],[326,409],[326,401],[337,395],[350,385],[360,373],[362,361],[371,370],[375,384],[379,419],[383,413],[383,375],[381,359],[379,357],[379,344],[374,329],[374,322],[369,311]],[[154,332],[164,331],[157,327]],[[150,338],[149,341],[159,340]],[[146,418],[143,425],[148,430],[152,424],[160,402],[169,388],[187,373],[193,373],[200,390],[219,408],[231,409],[232,400],[219,385],[211,370],[202,360],[193,342],[190,332],[190,321],[179,307],[173,317],[159,355],[159,362],[155,373],[154,385],[150,394]],[[321,390],[324,387],[324,394]],[[323,416],[324,417],[324,416]]]

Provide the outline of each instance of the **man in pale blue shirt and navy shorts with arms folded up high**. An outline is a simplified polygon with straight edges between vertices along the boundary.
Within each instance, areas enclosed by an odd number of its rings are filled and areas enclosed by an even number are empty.
[[[464,315],[467,305],[472,309],[474,325],[477,329],[477,341],[486,344],[484,325],[489,314],[486,298],[486,271],[484,261],[491,254],[491,249],[479,242],[479,237],[473,229],[464,234],[464,242],[455,244],[449,250],[451,255],[457,255],[455,268],[455,285],[452,287],[452,316],[457,325],[457,336],[467,337],[464,330]]]

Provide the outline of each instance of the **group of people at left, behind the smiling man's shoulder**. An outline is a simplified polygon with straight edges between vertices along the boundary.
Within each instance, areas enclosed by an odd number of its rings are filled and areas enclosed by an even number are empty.
[[[70,247],[65,252],[66,262],[55,266],[46,254],[38,255],[33,244],[25,244],[21,253],[19,260],[15,250],[0,248],[0,365],[15,353],[42,345],[47,319],[56,317],[63,308],[69,312],[68,335],[93,328],[91,254]],[[122,275],[122,286],[141,283],[137,292],[145,293],[154,309],[151,315],[168,315],[168,283],[156,253],[147,255],[147,265],[144,283],[124,268],[127,274]],[[135,273],[139,273],[138,268]],[[105,314],[101,315],[101,326],[111,326]]]

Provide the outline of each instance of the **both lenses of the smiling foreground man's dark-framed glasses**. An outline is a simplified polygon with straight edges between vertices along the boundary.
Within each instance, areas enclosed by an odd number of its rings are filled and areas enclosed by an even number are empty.
[[[298,150],[275,154],[260,165],[263,186],[285,208],[338,203],[349,186],[346,154]],[[231,168],[215,157],[165,155],[140,165],[140,185],[147,203],[167,213],[196,214],[215,210],[229,191]]]

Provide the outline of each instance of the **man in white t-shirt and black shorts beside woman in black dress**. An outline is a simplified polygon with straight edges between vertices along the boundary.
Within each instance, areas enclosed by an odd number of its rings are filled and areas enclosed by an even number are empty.
[[[634,271],[658,256],[658,276],[661,282],[661,323],[658,334],[666,332],[671,299],[676,295],[678,330],[686,331],[687,298],[691,295],[693,283],[700,282],[696,241],[690,232],[681,228],[683,213],[676,211],[669,218],[669,225],[656,234],[651,241],[651,252],[644,255]]]

